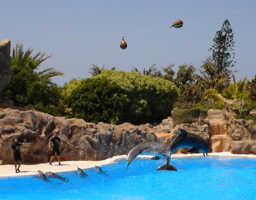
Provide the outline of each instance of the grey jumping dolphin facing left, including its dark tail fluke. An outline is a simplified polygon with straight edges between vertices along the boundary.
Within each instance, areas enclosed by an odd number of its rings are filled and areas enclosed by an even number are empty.
[[[177,171],[176,167],[169,164],[170,153],[168,152],[166,147],[163,144],[157,142],[143,142],[134,146],[128,152],[126,157],[128,163],[127,168],[132,163],[133,159],[143,152],[150,152],[151,155],[157,155],[165,160],[165,164],[158,167],[157,170]],[[125,171],[127,170],[127,168],[125,169]]]

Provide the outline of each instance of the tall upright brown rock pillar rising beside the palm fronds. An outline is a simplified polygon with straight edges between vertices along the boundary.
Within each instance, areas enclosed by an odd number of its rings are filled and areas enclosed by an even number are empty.
[[[0,43],[0,105],[3,103],[3,92],[11,82],[11,41]]]

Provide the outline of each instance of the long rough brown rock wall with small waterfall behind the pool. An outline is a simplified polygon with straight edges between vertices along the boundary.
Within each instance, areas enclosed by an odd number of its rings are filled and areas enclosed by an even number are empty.
[[[129,123],[110,125],[105,123],[87,123],[81,119],[53,117],[37,112],[32,108],[0,108],[0,163],[14,163],[11,157],[11,145],[14,138],[27,143],[21,147],[24,163],[49,162],[51,151],[49,139],[57,131],[63,142],[61,160],[103,160],[115,155],[127,154],[128,150],[145,140],[163,143],[166,147],[176,136],[175,130],[183,128],[199,134],[208,145],[210,152],[229,151],[238,154],[256,154],[255,129],[252,122],[225,119],[223,111],[208,111],[208,118],[199,125],[180,124],[173,127],[171,117],[158,125],[134,126]],[[214,122],[220,129],[215,129]],[[232,124],[230,124],[232,123]],[[220,133],[219,133],[220,132]],[[225,132],[225,133],[224,133]],[[216,136],[220,136],[219,140]],[[225,137],[224,137],[225,136]],[[224,138],[224,139],[223,139]],[[177,153],[187,153],[183,148]]]

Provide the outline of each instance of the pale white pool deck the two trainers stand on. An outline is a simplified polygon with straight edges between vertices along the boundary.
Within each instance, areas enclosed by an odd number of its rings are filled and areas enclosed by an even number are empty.
[[[152,157],[149,155],[139,155],[140,158],[148,158]],[[204,158],[202,153],[194,153],[194,154],[173,154],[171,159],[188,159],[188,158]],[[229,152],[221,152],[221,153],[208,153],[209,158],[250,158],[256,159],[256,155],[254,154],[232,154]],[[44,173],[46,171],[51,171],[53,173],[58,172],[67,172],[67,171],[77,171],[77,167],[86,169],[93,168],[95,165],[102,166],[106,164],[117,163],[119,161],[125,161],[126,155],[118,155],[112,158],[108,158],[106,160],[101,161],[64,161],[61,162],[61,166],[58,165],[58,162],[52,163],[53,165],[49,165],[49,163],[41,163],[41,164],[22,164],[20,167],[19,173],[15,172],[14,165],[6,164],[0,165],[0,177],[9,177],[9,176],[25,176],[25,175],[38,175],[37,170],[41,170]]]

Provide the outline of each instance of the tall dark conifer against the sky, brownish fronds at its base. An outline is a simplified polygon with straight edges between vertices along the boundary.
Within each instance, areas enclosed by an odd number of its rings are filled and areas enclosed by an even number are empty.
[[[219,93],[227,88],[233,67],[233,33],[228,20],[225,20],[220,31],[216,32],[213,39],[213,46],[209,50],[212,56],[207,58],[200,67],[201,76],[197,77],[197,85],[203,87],[203,90],[213,88]]]

